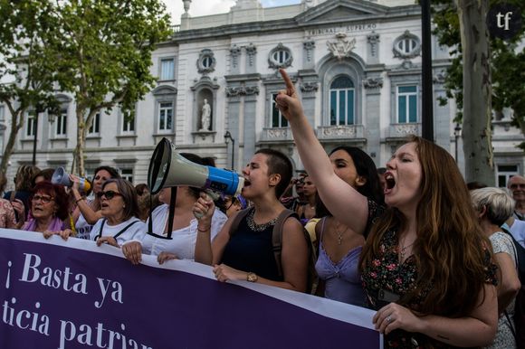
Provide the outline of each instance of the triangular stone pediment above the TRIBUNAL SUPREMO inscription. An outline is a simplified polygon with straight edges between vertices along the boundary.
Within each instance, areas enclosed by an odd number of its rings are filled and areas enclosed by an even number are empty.
[[[296,21],[300,24],[309,24],[383,17],[388,10],[387,6],[368,1],[328,0],[299,14]]]

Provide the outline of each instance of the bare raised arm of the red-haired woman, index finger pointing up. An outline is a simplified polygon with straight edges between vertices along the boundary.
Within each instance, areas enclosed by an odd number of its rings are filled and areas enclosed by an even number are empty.
[[[302,164],[317,186],[322,202],[336,219],[353,231],[367,226],[367,198],[334,173],[324,148],[302,111],[301,101],[286,71],[281,70],[286,91],[281,91],[276,105],[288,119]],[[351,213],[351,214],[349,214]]]

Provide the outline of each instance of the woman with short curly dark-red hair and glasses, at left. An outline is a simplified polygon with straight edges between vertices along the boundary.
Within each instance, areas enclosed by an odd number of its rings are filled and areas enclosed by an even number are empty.
[[[68,195],[61,185],[43,181],[34,185],[30,196],[31,219],[25,222],[23,231],[40,231],[45,237],[64,229],[68,217]]]

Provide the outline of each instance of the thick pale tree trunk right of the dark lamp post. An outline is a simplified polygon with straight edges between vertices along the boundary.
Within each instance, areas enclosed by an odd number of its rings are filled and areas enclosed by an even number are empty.
[[[494,185],[492,85],[488,0],[455,0],[463,46],[463,153],[465,180]]]

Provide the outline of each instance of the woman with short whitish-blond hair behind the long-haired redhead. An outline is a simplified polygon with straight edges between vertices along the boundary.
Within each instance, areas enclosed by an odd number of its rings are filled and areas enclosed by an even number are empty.
[[[516,348],[516,341],[511,331],[514,322],[509,320],[514,316],[514,300],[521,284],[516,271],[516,248],[509,234],[501,231],[500,228],[511,217],[514,201],[504,190],[492,187],[472,190],[471,196],[483,232],[492,243],[494,258],[500,267],[497,273],[498,314],[500,314],[498,332],[487,348]],[[506,315],[504,315],[505,311]]]

